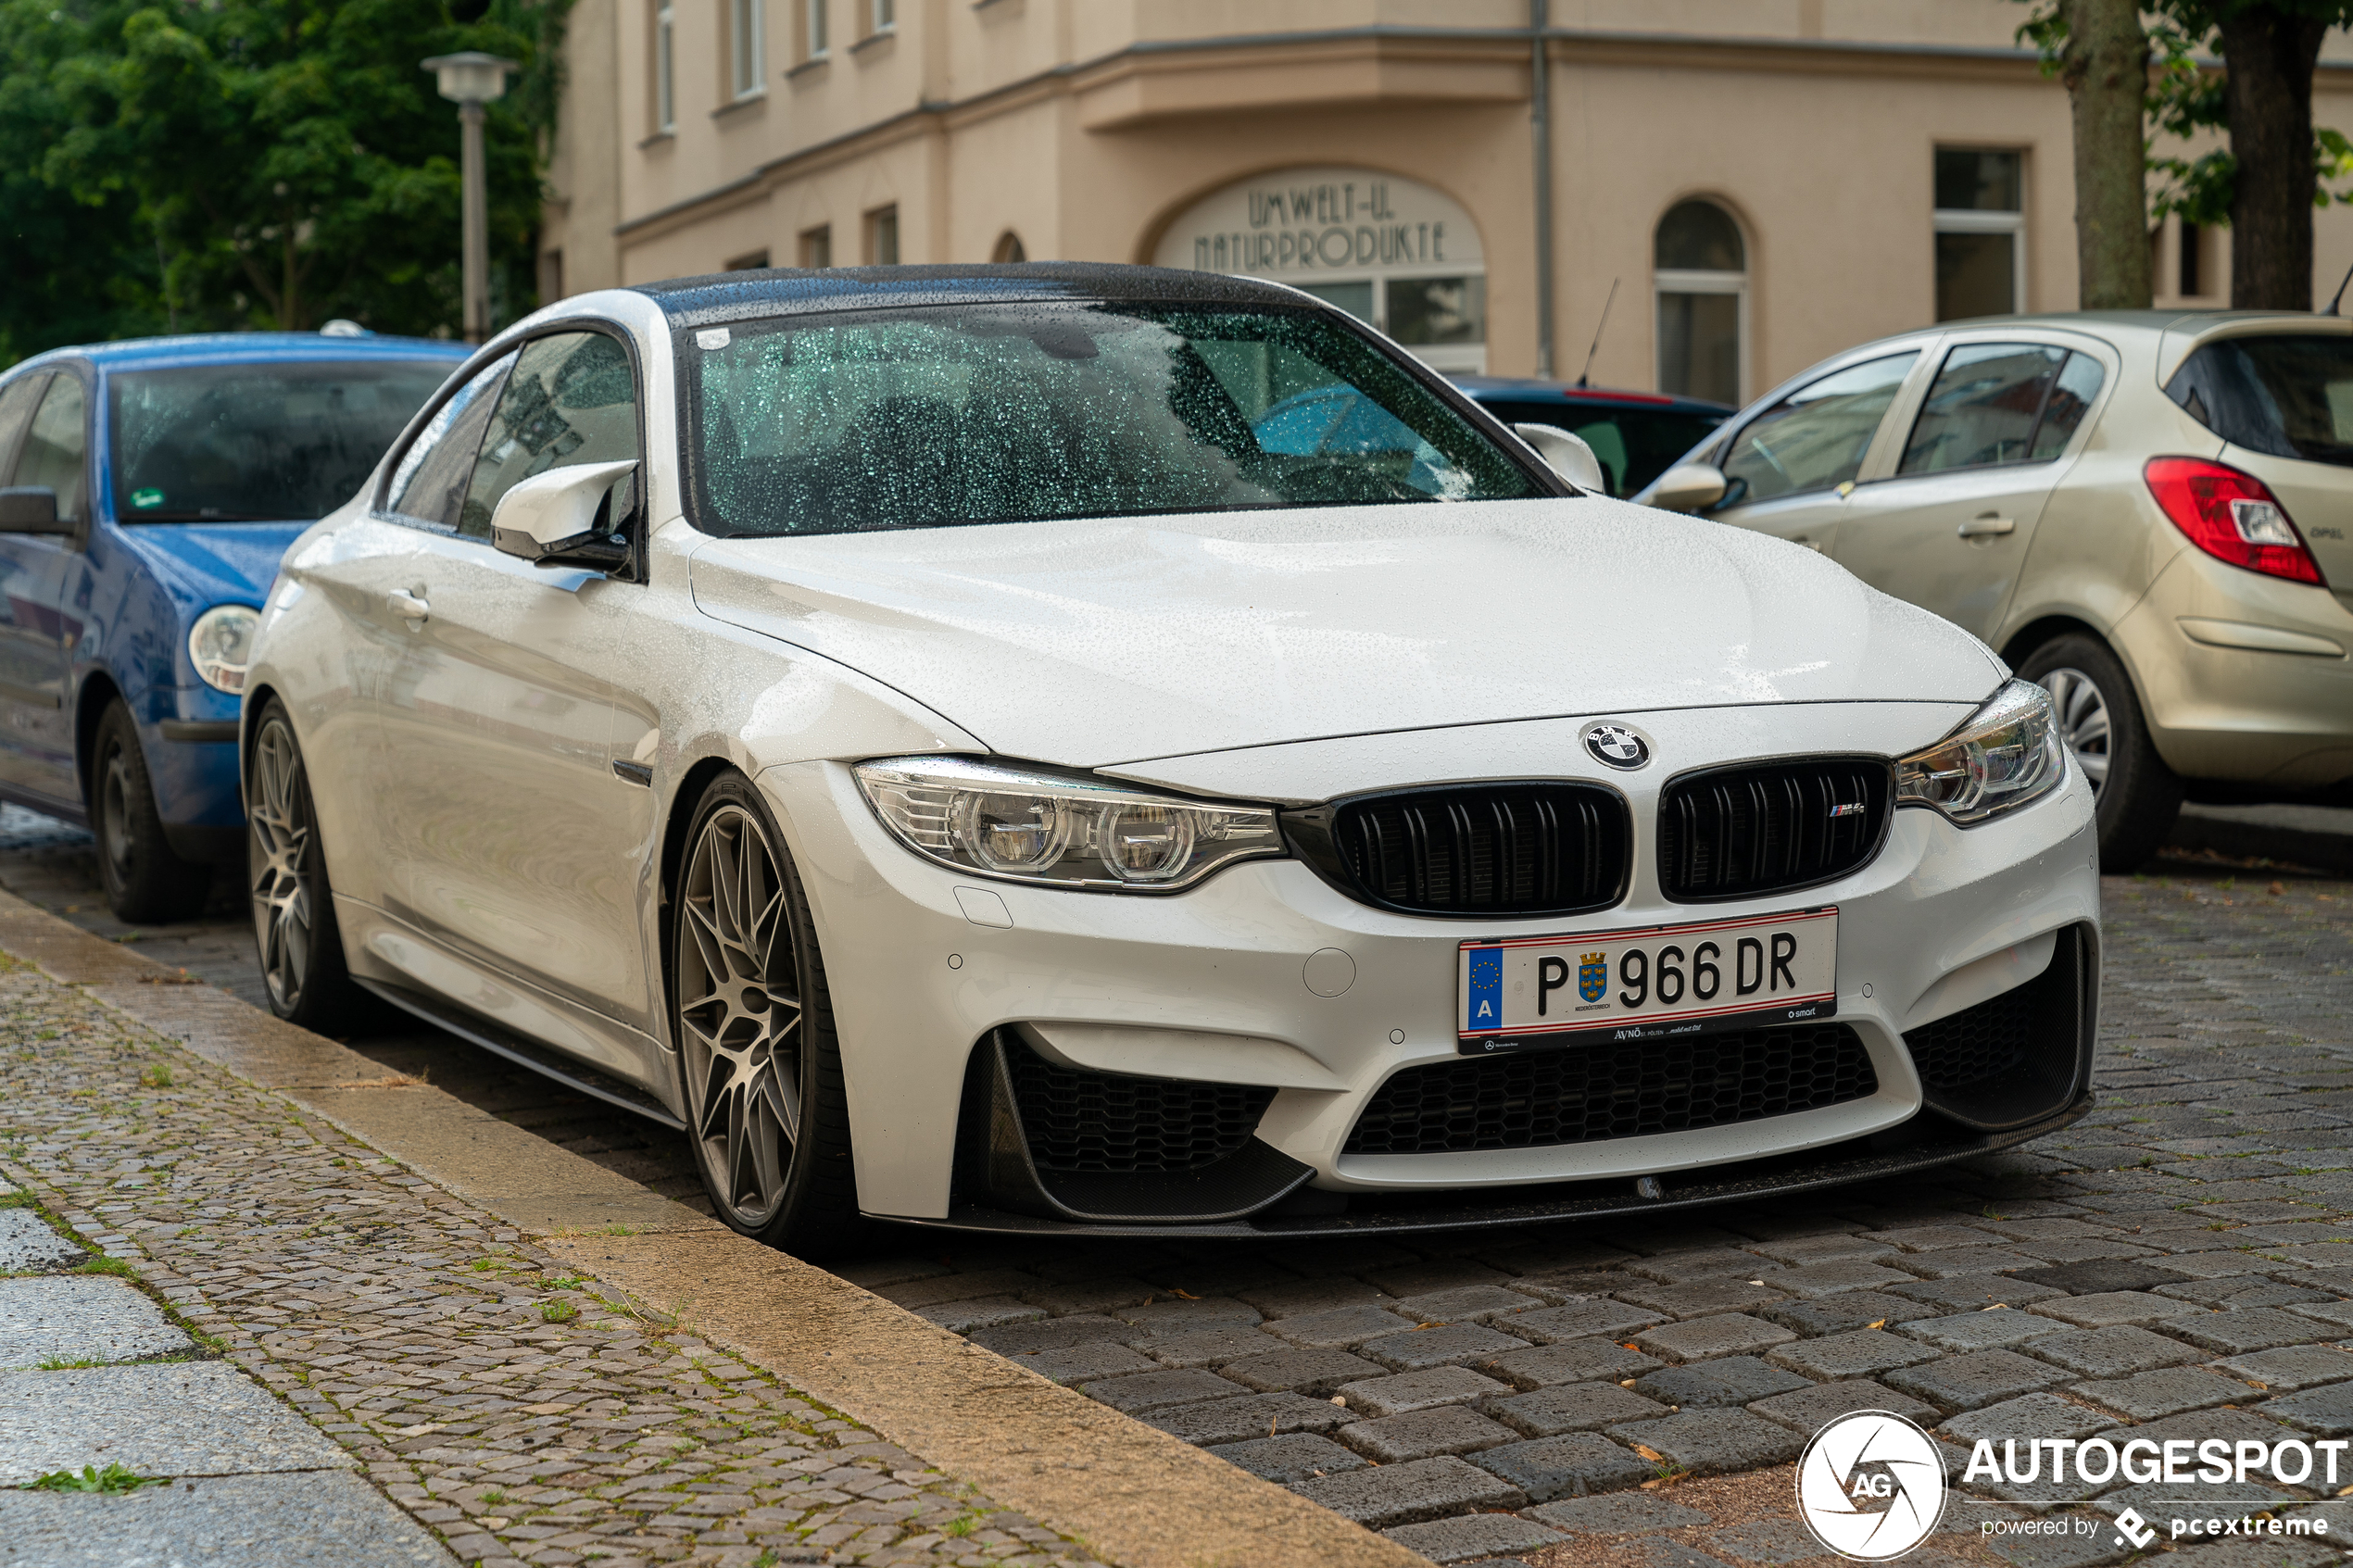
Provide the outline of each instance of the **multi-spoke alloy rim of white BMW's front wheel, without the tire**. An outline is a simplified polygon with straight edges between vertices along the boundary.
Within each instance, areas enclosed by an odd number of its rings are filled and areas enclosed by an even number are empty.
[[[678,1023],[694,1140],[713,1194],[758,1229],[784,1206],[800,1140],[800,978],[784,877],[741,806],[687,856]]]

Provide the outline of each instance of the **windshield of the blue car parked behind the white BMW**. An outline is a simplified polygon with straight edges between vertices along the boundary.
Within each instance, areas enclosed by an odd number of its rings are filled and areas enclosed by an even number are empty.
[[[325,517],[449,376],[447,360],[188,364],[108,378],[115,517]]]

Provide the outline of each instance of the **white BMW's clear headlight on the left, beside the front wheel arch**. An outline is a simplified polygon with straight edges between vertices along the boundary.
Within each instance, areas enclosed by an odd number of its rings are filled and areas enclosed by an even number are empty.
[[[981,877],[1167,893],[1233,860],[1285,853],[1268,806],[1224,806],[955,757],[889,757],[861,762],[854,773],[901,844]]]

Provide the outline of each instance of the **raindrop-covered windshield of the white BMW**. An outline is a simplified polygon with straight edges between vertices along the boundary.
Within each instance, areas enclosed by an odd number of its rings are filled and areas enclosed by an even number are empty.
[[[680,355],[711,534],[1553,494],[1313,310],[781,317]]]

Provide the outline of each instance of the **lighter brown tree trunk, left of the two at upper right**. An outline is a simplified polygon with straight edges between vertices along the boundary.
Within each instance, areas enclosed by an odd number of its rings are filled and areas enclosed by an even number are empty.
[[[2146,310],[2148,35],[2137,0],[2061,0],[2061,19],[2059,80],[2075,113],[2075,301],[2085,310]]]

